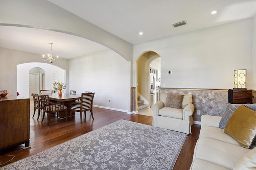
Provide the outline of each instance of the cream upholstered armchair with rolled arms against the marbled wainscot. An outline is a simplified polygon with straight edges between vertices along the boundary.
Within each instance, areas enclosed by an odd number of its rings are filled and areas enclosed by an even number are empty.
[[[182,95],[179,100],[182,103],[181,108],[176,109],[166,106],[166,99],[170,98],[170,95],[175,95],[167,94],[161,93],[160,101],[151,107],[154,112],[153,126],[191,134],[191,126],[193,125],[192,115],[195,108],[192,95]],[[174,103],[176,102],[175,100]]]

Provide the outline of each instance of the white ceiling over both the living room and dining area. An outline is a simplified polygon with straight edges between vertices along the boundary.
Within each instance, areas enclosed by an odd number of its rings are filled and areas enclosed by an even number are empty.
[[[132,44],[251,18],[256,10],[256,0],[48,1]],[[212,15],[213,10],[217,14]],[[183,20],[186,25],[172,26]],[[60,32],[0,26],[0,47],[46,54],[50,52],[50,42],[54,43],[53,55],[66,59],[108,50],[90,40]]]

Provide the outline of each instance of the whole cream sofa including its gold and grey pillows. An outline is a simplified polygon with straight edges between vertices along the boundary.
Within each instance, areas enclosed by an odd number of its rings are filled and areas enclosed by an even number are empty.
[[[228,104],[222,117],[202,115],[190,170],[256,169],[255,110],[256,104]]]

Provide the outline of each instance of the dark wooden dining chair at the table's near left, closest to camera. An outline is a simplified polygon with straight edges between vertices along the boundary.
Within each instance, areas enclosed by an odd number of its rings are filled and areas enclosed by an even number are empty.
[[[50,117],[52,113],[60,112],[60,111],[66,111],[66,121],[67,121],[67,107],[64,105],[64,103],[52,103],[50,102],[49,95],[41,95],[41,100],[43,103],[43,111],[44,115],[45,113],[48,113],[48,123],[47,125],[50,124]],[[44,115],[42,122],[44,120]]]

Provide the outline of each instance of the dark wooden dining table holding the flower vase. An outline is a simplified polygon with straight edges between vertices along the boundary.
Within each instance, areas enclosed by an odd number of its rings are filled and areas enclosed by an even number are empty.
[[[51,101],[64,103],[64,105],[67,107],[68,115],[70,115],[68,116],[70,120],[71,120],[71,117],[75,115],[74,111],[70,112],[70,102],[81,99],[81,94],[62,93],[62,95],[58,95],[58,93],[50,93],[50,94],[44,94],[44,95],[48,95]],[[66,112],[65,111],[60,112],[58,115],[58,118],[60,119],[66,118]]]

